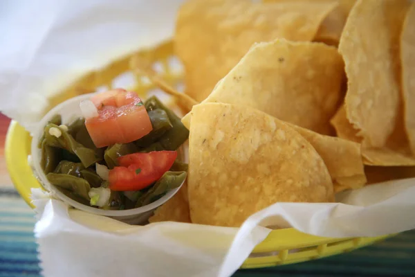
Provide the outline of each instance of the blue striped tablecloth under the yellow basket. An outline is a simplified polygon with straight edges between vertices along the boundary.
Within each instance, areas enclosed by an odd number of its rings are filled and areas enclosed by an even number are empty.
[[[0,115],[0,277],[37,277],[41,274],[33,236],[34,213],[13,188],[3,159],[8,123]],[[338,256],[239,270],[234,276],[415,276],[415,231]]]

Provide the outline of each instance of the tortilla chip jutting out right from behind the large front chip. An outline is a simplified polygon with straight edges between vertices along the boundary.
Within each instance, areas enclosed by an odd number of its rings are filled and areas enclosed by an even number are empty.
[[[333,136],[324,136],[308,129],[291,125],[322,157],[330,172],[335,193],[361,188],[366,184],[360,144]]]

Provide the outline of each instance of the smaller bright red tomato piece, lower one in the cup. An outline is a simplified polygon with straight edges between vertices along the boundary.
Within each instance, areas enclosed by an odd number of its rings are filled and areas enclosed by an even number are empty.
[[[160,179],[177,158],[176,151],[134,153],[118,158],[120,166],[109,170],[111,190],[141,190]]]

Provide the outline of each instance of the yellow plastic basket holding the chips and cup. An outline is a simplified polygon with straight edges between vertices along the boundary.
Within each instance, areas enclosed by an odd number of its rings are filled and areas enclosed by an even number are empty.
[[[183,73],[174,71],[170,62],[171,58],[174,57],[173,44],[172,42],[166,42],[156,48],[123,57],[99,71],[84,75],[73,85],[61,93],[57,93],[57,96],[51,99],[50,107],[82,93],[96,91],[98,88],[113,88],[116,86],[116,79],[126,73],[132,73],[136,80],[136,84],[132,89],[145,98],[147,93],[154,89],[154,84],[151,84],[145,76],[132,70],[131,64],[133,62],[131,61],[135,60],[136,57],[140,57],[140,59],[144,57],[146,61],[157,64],[158,69],[161,69],[159,70],[160,76],[172,86],[176,86],[181,82]],[[15,187],[31,206],[30,188],[39,188],[40,185],[33,176],[27,162],[28,154],[30,154],[30,141],[30,134],[26,132],[24,127],[12,121],[6,138],[6,163]],[[338,239],[308,235],[292,228],[275,230],[268,235],[266,240],[255,247],[250,257],[241,267],[270,267],[313,260],[352,251],[387,237]]]

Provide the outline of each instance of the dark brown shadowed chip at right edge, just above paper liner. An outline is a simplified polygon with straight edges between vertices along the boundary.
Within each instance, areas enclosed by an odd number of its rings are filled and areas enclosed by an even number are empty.
[[[365,166],[365,172],[367,184],[415,177],[415,167],[413,166]]]

